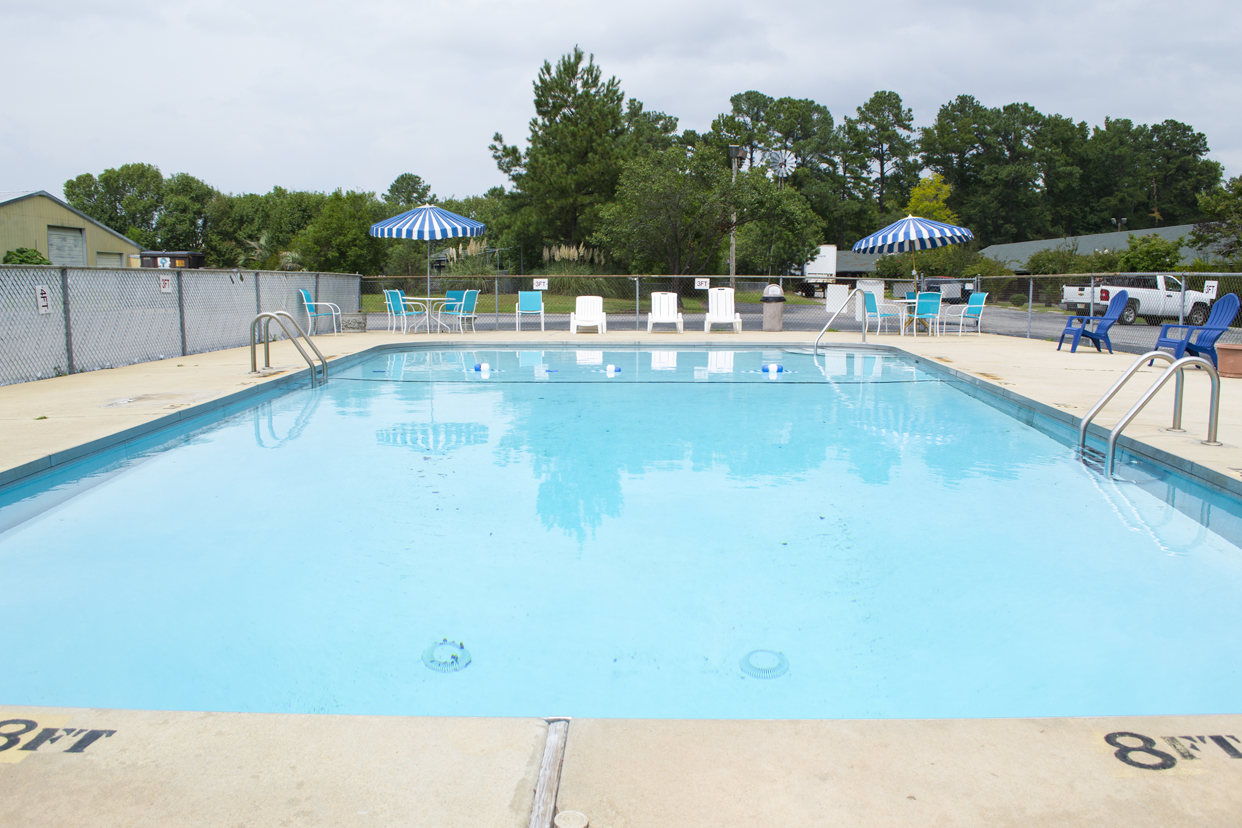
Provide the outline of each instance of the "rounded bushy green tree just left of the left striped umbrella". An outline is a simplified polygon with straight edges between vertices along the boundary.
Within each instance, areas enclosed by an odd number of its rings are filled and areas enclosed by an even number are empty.
[[[374,192],[334,191],[319,215],[293,240],[301,262],[312,271],[376,276],[384,269],[385,240],[370,235],[386,206]]]

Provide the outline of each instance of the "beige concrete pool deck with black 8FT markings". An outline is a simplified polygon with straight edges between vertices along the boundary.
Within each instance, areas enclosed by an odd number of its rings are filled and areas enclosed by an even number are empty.
[[[315,341],[330,364],[391,343],[481,351],[502,344],[779,348],[810,345],[814,334],[373,331]],[[825,341],[856,345],[858,334],[828,334]],[[899,348],[1073,416],[1086,412],[1134,361],[1129,354],[1058,353],[1047,341],[992,335],[871,335],[868,345]],[[266,377],[248,374],[248,349],[231,349],[0,387],[0,473],[51,466],[76,456],[83,444],[150,428],[238,390],[279,382],[303,367],[299,361],[288,343],[274,343],[272,362],[279,372]],[[1144,370],[1150,371],[1144,377],[1154,379],[1160,369]],[[1144,377],[1123,391],[1100,425],[1115,422],[1138,398],[1150,382]],[[1222,386],[1223,446],[1199,443],[1206,432],[1207,377],[1197,372],[1187,376],[1187,433],[1160,431],[1171,412],[1167,389],[1126,434],[1238,480],[1242,380],[1223,380]],[[1187,680],[1159,665],[1118,665],[1118,673],[1126,680]],[[0,725],[0,807],[12,826],[525,828],[548,730],[539,719],[11,705],[0,706],[0,721],[21,720]],[[15,740],[2,739],[19,730]],[[1238,715],[579,719],[569,726],[558,804],[586,813],[596,828],[1236,824],[1242,809],[1240,731]],[[1135,735],[1117,735],[1122,732]]]

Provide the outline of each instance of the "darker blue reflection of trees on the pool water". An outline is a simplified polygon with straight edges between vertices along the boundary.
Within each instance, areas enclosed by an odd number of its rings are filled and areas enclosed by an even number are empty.
[[[623,474],[661,467],[724,469],[761,484],[841,461],[853,480],[884,484],[918,458],[946,484],[985,466],[991,477],[1013,477],[974,447],[980,425],[961,407],[966,397],[933,382],[493,387],[512,417],[496,462],[529,458],[544,526],[580,542],[620,516]]]

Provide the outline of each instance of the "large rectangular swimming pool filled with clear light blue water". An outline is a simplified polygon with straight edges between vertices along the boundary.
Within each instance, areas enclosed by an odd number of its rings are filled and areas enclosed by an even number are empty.
[[[888,354],[388,353],[92,464],[0,500],[5,703],[1238,711],[1236,505]]]

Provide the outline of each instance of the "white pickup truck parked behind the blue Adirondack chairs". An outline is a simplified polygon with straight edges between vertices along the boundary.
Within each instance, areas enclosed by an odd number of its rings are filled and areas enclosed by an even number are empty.
[[[1179,314],[1184,314],[1182,319],[1187,325],[1202,325],[1207,322],[1208,308],[1212,307],[1212,298],[1200,290],[1186,290],[1182,305],[1181,282],[1166,273],[1102,276],[1094,282],[1094,287],[1064,286],[1061,289],[1061,307],[1087,315],[1094,299],[1095,315],[1100,317],[1113,294],[1125,290],[1129,300],[1122,312],[1123,325],[1133,325],[1139,317],[1143,317],[1149,325],[1159,325],[1164,322],[1177,322]]]

